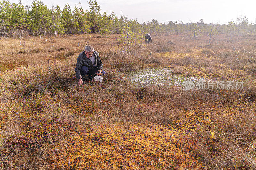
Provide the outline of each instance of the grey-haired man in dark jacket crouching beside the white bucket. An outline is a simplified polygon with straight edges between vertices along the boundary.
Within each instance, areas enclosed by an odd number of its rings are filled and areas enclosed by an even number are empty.
[[[84,51],[79,54],[75,71],[79,86],[82,86],[82,77],[84,78],[86,75],[93,78],[96,75],[103,76],[105,74],[100,54],[94,51],[93,46],[86,45]]]

